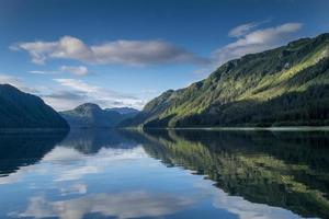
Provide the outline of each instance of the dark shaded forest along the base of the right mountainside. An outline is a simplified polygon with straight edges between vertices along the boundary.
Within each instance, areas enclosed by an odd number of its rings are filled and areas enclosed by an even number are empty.
[[[152,120],[146,127],[163,127],[167,120]],[[177,127],[326,125],[329,125],[329,85],[311,87],[268,102],[228,103],[217,106],[216,112],[183,117],[175,123]]]

